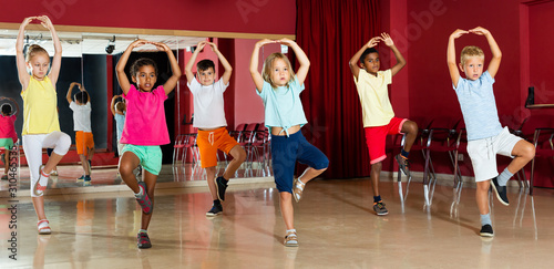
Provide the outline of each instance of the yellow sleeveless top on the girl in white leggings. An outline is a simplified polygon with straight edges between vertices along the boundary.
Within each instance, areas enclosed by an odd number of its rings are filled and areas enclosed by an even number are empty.
[[[50,79],[42,81],[31,76],[29,86],[21,92],[23,99],[23,132],[27,134],[50,134],[60,131],[58,121],[58,94]]]

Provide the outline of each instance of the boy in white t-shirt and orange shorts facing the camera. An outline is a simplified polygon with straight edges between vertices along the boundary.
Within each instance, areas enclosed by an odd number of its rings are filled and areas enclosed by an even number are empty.
[[[193,73],[194,62],[206,44],[212,46],[225,69],[217,82],[215,81],[215,64],[212,60],[199,61],[196,64],[196,77]],[[214,199],[213,207],[206,213],[206,216],[217,216],[223,213],[220,200],[225,200],[227,183],[246,159],[244,148],[238,145],[226,128],[227,121],[225,118],[223,93],[229,85],[232,73],[233,68],[222,52],[217,50],[216,44],[207,41],[198,42],[196,51],[194,51],[193,56],[185,66],[187,86],[194,96],[193,126],[198,128],[196,144],[201,151],[202,167],[206,169],[209,193]],[[223,176],[215,178],[217,149],[233,156],[233,161],[230,161]]]

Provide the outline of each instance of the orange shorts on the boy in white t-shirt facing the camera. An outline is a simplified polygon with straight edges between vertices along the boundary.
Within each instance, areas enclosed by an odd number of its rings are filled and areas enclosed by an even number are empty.
[[[196,145],[201,151],[202,168],[206,168],[217,165],[217,149],[229,154],[238,143],[229,135],[226,127],[220,127],[214,131],[198,130]]]

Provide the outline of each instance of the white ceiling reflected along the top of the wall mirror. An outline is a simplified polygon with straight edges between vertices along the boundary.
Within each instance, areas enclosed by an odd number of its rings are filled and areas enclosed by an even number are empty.
[[[0,55],[16,55],[16,39],[18,30],[0,30]],[[173,35],[136,35],[136,34],[107,34],[107,33],[75,33],[58,32],[62,43],[63,56],[80,58],[82,54],[107,54],[105,48],[115,35],[115,50],[112,54],[123,52],[136,39],[163,42],[172,50],[186,49],[196,45],[206,38],[173,37]],[[27,37],[29,39],[27,39]],[[40,44],[50,55],[54,48],[48,31],[25,31],[25,42]],[[144,45],[134,51],[156,51],[154,45]]]

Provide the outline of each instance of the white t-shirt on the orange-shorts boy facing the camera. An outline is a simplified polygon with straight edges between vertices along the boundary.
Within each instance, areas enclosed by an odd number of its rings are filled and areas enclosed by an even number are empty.
[[[188,89],[194,96],[194,123],[197,128],[215,128],[227,126],[225,120],[225,107],[223,93],[229,86],[223,84],[223,80],[209,86],[204,86],[196,79],[187,83]]]

